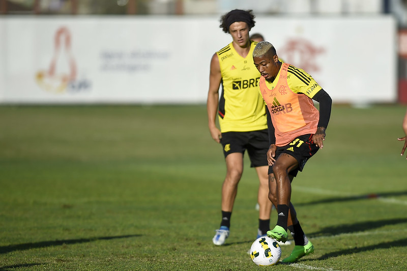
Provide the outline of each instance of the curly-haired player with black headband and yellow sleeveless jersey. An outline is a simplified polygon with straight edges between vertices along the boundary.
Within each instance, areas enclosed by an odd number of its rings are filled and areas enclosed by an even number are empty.
[[[223,245],[229,236],[230,217],[243,173],[243,154],[246,150],[260,182],[257,235],[266,235],[270,229],[272,206],[268,199],[266,107],[258,93],[260,76],[252,59],[256,43],[249,39],[249,31],[255,23],[254,15],[251,10],[232,10],[223,15],[220,22],[220,27],[230,34],[232,42],[212,56],[207,100],[209,130],[212,138],[221,143],[226,162],[222,218],[220,228],[212,239],[218,246]],[[216,127],[217,116],[220,130]]]

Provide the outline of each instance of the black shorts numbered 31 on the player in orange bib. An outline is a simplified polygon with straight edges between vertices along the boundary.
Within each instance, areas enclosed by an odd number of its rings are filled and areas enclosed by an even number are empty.
[[[288,172],[289,175],[297,176],[298,171],[302,171],[305,163],[310,159],[317,151],[319,147],[312,141],[312,134],[306,134],[297,137],[285,146],[277,147],[276,160],[281,154],[289,154],[298,161],[298,168]],[[273,166],[269,166],[269,174],[273,173]]]

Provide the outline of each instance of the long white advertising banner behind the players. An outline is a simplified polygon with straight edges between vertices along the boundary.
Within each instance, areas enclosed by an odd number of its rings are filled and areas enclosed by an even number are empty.
[[[336,103],[395,102],[392,17],[256,17],[287,63]],[[0,103],[205,103],[213,53],[231,42],[211,17],[0,18]]]

